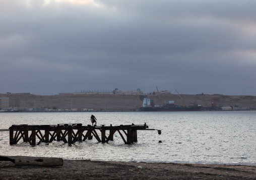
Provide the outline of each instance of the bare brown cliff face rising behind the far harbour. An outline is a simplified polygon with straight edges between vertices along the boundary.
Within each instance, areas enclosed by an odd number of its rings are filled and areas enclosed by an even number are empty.
[[[1,97],[9,97],[10,106],[17,108],[53,108],[78,110],[87,108],[106,111],[136,110],[142,105],[140,95],[33,95],[33,94],[0,94]],[[154,100],[155,105],[160,105],[158,95],[148,95]],[[210,105],[212,101],[217,106],[256,107],[256,96],[228,96],[228,95],[181,95],[184,105],[194,104]],[[174,101],[182,105],[178,95],[161,95],[161,104],[164,101]]]

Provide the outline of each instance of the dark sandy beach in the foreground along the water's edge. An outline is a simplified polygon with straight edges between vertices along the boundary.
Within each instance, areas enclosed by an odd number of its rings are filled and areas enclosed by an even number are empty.
[[[64,160],[63,166],[0,162],[0,179],[255,179],[256,166]]]

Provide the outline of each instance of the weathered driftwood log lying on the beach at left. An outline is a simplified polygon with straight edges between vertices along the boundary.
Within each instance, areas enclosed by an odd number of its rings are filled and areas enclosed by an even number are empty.
[[[58,157],[1,156],[0,161],[11,161],[15,165],[61,166],[63,159]]]

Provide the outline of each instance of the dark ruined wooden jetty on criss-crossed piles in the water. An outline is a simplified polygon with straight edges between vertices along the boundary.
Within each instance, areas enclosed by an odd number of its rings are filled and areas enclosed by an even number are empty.
[[[1,129],[3,131],[4,129]],[[108,142],[113,140],[116,131],[121,136],[125,144],[137,142],[137,130],[156,130],[149,129],[147,124],[143,125],[119,125],[119,126],[83,126],[82,124],[57,124],[57,125],[12,125],[10,131],[10,144],[17,144],[21,139],[29,142],[30,145],[39,145],[41,142],[49,143],[53,140],[63,141],[73,144],[77,141],[92,139],[94,136],[98,142]],[[98,133],[101,134],[101,137]],[[107,133],[106,133],[107,131]],[[106,135],[108,134],[108,135]],[[124,138],[126,136],[126,138]],[[38,142],[36,143],[36,137]]]

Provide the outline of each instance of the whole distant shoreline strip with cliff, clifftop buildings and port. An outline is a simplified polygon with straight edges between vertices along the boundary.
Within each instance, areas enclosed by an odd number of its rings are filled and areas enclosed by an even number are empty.
[[[176,91],[176,90],[175,90]],[[147,97],[147,103],[145,101]],[[30,93],[0,93],[0,112],[74,112],[74,111],[153,111],[167,110],[255,110],[256,96],[223,94],[172,94],[169,90],[144,93],[134,91],[75,91],[58,95]]]

